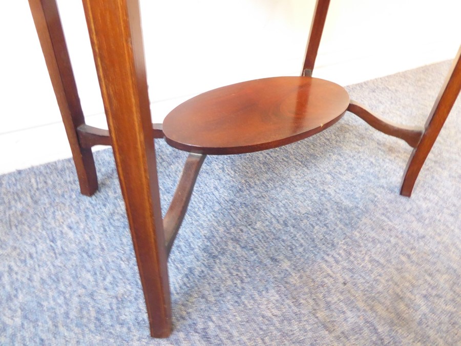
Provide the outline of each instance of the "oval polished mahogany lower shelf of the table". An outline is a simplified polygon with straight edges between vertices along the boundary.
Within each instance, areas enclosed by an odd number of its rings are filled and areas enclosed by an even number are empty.
[[[218,88],[166,116],[171,146],[200,154],[241,154],[280,147],[336,123],[349,106],[343,87],[311,77],[274,77]]]

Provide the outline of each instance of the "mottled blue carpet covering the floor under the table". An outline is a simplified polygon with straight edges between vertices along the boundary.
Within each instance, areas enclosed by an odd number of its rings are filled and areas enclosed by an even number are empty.
[[[348,87],[423,125],[449,63]],[[110,149],[0,176],[0,343],[461,344],[461,105],[411,198],[411,148],[347,113],[283,148],[207,157],[169,260],[174,331],[149,337]],[[165,211],[186,154],[157,141]]]

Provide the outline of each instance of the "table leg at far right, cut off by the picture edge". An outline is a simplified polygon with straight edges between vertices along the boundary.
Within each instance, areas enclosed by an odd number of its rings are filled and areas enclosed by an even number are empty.
[[[434,106],[426,121],[425,131],[421,137],[420,143],[411,153],[407,167],[402,180],[400,194],[410,197],[413,191],[414,183],[421,168],[426,161],[427,155],[432,149],[438,134],[444,126],[445,120],[456,101],[461,89],[461,47],[453,62],[450,72],[445,79],[445,83],[439,92]]]

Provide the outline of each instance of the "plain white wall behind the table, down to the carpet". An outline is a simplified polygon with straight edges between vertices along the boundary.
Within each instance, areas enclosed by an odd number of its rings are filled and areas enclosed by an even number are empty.
[[[315,0],[140,0],[154,121],[242,80],[298,75]],[[81,2],[58,0],[83,111],[103,107]],[[331,0],[314,76],[342,85],[452,58],[461,2]],[[70,156],[28,3],[0,12],[0,173]]]

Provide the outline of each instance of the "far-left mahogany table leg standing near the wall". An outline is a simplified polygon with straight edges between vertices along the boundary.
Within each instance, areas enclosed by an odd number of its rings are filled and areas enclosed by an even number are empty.
[[[91,148],[79,144],[77,128],[85,124],[74,74],[55,0],[29,0],[38,39],[72,150],[80,191],[91,196],[98,180]]]

